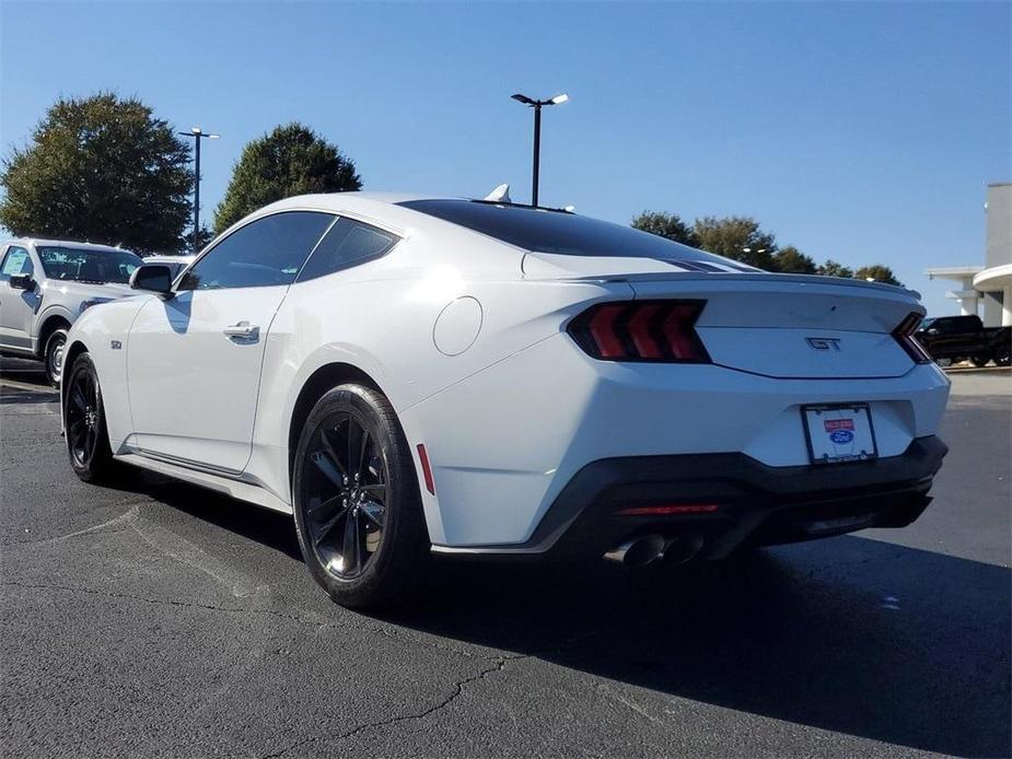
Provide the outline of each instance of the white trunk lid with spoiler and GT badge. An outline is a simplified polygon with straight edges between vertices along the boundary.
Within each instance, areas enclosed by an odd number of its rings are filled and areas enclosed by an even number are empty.
[[[911,312],[924,313],[914,291],[835,277],[679,266],[528,254],[524,275],[624,281],[638,301],[706,301],[696,331],[713,363],[730,369],[777,378],[856,380],[902,376],[915,365],[892,336]]]

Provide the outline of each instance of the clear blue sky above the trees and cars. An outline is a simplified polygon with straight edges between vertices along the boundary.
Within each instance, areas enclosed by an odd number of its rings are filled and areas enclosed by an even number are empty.
[[[930,265],[984,259],[1012,178],[1012,4],[16,3],[0,5],[0,142],[59,95],[138,95],[206,143],[210,219],[243,144],[301,120],[368,189],[530,194],[628,222],[746,214],[817,260],[888,264],[931,313]]]

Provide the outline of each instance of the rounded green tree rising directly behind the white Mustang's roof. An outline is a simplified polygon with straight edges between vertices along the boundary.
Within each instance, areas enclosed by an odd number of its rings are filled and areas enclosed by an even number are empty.
[[[354,163],[337,145],[293,121],[243,149],[225,197],[214,211],[214,232],[221,233],[247,213],[293,195],[361,188]]]

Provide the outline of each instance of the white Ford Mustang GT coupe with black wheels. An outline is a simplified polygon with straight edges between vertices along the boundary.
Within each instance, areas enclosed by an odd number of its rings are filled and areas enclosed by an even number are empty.
[[[131,284],[69,335],[74,471],[293,514],[350,606],[433,552],[642,564],[904,526],[946,452],[917,293],[567,211],[290,198]]]

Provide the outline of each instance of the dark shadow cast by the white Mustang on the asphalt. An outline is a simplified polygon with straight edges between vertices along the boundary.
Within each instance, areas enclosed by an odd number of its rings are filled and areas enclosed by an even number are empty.
[[[792,723],[1009,756],[1010,570],[859,537],[630,574],[446,569],[388,621]]]

